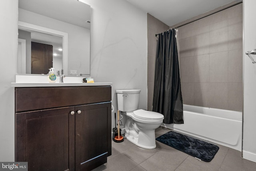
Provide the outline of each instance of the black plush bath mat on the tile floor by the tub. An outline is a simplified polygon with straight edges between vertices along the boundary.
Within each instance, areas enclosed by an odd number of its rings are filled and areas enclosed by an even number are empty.
[[[206,162],[211,161],[219,149],[217,145],[174,131],[169,131],[157,137],[156,140]]]

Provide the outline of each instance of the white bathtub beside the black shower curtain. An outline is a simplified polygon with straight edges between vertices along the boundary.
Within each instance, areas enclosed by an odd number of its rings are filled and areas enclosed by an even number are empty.
[[[183,105],[184,124],[161,126],[242,150],[242,112]]]

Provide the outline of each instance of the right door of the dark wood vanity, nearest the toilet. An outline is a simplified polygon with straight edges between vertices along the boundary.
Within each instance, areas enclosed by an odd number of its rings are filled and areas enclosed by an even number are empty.
[[[75,123],[76,171],[106,163],[111,155],[111,102],[76,106]]]

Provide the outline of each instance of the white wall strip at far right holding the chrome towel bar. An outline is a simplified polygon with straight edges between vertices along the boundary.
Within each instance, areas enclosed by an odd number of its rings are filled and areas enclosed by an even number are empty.
[[[256,162],[256,64],[246,51],[256,49],[255,0],[244,4],[244,125],[243,158]],[[255,55],[254,55],[255,56]],[[255,56],[256,57],[256,56]]]

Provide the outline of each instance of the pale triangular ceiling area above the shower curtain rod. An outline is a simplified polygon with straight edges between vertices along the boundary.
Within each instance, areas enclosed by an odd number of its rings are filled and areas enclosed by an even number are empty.
[[[168,26],[173,26],[237,0],[126,0]]]

